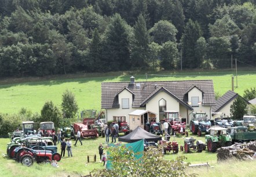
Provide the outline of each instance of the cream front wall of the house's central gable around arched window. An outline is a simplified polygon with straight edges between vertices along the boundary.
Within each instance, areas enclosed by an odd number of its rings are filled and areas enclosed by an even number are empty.
[[[164,91],[159,92],[155,95],[146,105],[146,110],[157,113],[156,121],[159,121],[159,101],[160,99],[166,100],[166,110],[177,110],[180,111],[180,103],[171,97],[169,94]]]

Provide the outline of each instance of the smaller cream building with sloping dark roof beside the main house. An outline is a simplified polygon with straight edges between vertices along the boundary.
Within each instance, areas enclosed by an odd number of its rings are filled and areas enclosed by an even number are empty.
[[[213,119],[220,116],[231,117],[230,108],[238,96],[239,94],[229,90],[224,95],[222,95],[222,97],[218,98],[216,101],[216,105],[211,108]],[[246,100],[244,99],[244,101]],[[248,101],[246,102],[247,104],[250,104]]]

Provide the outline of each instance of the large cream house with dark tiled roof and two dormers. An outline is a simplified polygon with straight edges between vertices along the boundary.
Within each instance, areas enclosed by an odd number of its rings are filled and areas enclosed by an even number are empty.
[[[177,110],[181,117],[203,111],[211,116],[215,105],[213,80],[182,80],[159,82],[101,83],[101,108],[106,110],[106,119],[114,115],[126,115],[134,110],[149,110],[156,113],[156,121],[164,119],[164,110]]]

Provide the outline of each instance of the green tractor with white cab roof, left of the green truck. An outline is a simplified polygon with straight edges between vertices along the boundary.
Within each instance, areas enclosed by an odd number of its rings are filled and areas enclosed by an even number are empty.
[[[227,134],[227,128],[213,126],[210,135],[206,135],[206,145],[209,152],[216,152],[217,148],[232,145],[232,138]]]

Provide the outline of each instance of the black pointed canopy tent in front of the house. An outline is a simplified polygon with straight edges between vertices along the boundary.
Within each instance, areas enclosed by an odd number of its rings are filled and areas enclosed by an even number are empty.
[[[150,132],[145,131],[143,128],[138,126],[134,131],[130,132],[130,134],[125,135],[123,137],[119,137],[118,141],[122,142],[136,142],[141,139],[145,139],[146,141],[160,141],[162,137],[158,135],[153,135]]]

